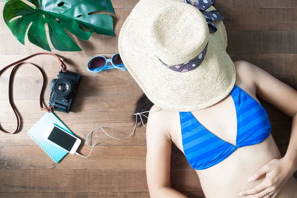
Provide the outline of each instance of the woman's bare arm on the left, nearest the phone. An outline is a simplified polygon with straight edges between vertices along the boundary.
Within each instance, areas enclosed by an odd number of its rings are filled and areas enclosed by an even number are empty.
[[[159,107],[153,106],[152,109]],[[166,118],[151,112],[147,125],[147,180],[151,198],[187,198],[170,187],[171,140]]]

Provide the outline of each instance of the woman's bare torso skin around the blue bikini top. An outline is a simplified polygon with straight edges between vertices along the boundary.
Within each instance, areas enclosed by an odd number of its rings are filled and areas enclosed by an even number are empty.
[[[236,85],[250,97],[255,97],[255,87],[247,77],[237,74]],[[171,137],[173,144],[184,152],[179,112],[166,112],[171,119]],[[195,118],[208,131],[221,140],[236,145],[237,114],[231,95],[208,108],[192,112]],[[170,114],[170,115],[169,115]],[[281,158],[271,135],[259,144],[237,148],[231,155],[207,169],[196,170],[206,198],[239,198],[242,190],[259,184],[264,177],[248,182],[248,177],[275,158]],[[215,189],[215,191],[213,191]],[[297,182],[292,176],[276,198],[297,198]]]

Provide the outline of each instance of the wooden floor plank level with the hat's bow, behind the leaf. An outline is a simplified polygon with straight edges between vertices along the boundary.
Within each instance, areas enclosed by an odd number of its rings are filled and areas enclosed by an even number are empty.
[[[126,7],[128,3],[130,2],[122,4]],[[231,8],[220,6],[217,9],[225,18],[224,24],[227,30],[297,31],[297,14],[292,8]],[[131,11],[132,7],[115,8],[116,14],[113,15],[115,32],[120,31]],[[2,12],[2,8],[0,8],[0,12]],[[0,22],[0,28],[8,30],[3,20]]]

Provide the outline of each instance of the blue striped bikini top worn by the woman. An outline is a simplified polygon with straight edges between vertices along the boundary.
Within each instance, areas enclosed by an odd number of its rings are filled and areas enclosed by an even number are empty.
[[[184,153],[190,165],[196,170],[203,170],[220,163],[236,148],[262,142],[271,132],[268,114],[258,101],[236,85],[230,95],[237,115],[236,145],[227,143],[208,131],[192,112],[179,113]]]

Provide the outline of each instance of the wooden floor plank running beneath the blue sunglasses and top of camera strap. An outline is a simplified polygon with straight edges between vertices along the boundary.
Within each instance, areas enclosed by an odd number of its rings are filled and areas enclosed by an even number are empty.
[[[113,54],[102,54],[106,57],[112,57]],[[297,53],[288,53],[288,54],[278,54],[278,53],[267,53],[267,54],[253,54],[253,53],[230,53],[230,57],[233,61],[237,60],[246,60],[251,62],[252,64],[264,69],[268,73],[274,76],[297,76],[297,67],[294,65],[297,62]],[[8,65],[12,62],[20,60],[27,55],[0,55],[0,68],[3,68],[5,65]],[[82,75],[84,78],[86,77],[115,77],[115,78],[126,78],[130,76],[129,72],[123,72],[120,70],[106,70],[100,73],[90,73],[87,71],[87,63],[93,57],[91,54],[81,54],[79,56],[70,56],[71,59],[61,57],[63,61],[67,64],[67,68],[69,71],[76,72]],[[41,55],[30,59],[30,62],[33,62],[40,66],[48,76],[48,80],[52,78],[56,78],[56,75],[59,71],[59,65],[57,60],[54,57]],[[9,77],[10,70],[7,70],[3,74],[1,74],[0,79],[3,77]],[[40,77],[41,74],[39,71],[31,66],[24,65],[20,67],[16,72],[17,77]],[[35,79],[35,78],[34,78]],[[115,82],[116,83],[116,82]]]

